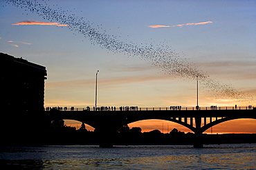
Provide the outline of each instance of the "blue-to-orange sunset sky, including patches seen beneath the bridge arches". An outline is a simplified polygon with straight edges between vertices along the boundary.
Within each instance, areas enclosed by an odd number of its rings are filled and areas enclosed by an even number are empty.
[[[98,106],[194,107],[196,75],[200,107],[256,105],[256,1],[27,2],[0,1],[0,52],[46,66],[45,107],[93,107],[97,70]],[[189,131],[163,120],[129,127]]]

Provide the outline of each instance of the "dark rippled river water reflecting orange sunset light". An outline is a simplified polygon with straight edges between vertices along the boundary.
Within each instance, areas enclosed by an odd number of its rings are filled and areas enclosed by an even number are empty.
[[[0,147],[0,169],[256,169],[256,144]]]

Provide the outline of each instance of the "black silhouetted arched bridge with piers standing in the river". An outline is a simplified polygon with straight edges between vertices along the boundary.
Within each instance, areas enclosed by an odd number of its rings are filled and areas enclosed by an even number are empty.
[[[138,120],[169,120],[188,127],[196,138],[194,147],[203,147],[204,131],[228,120],[241,118],[256,119],[255,109],[201,109],[201,110],[168,110],[168,109],[136,109],[135,111],[44,111],[48,120],[70,119],[86,123],[95,128],[100,136],[100,147],[111,147],[111,135],[120,127]],[[112,133],[111,133],[112,132]]]

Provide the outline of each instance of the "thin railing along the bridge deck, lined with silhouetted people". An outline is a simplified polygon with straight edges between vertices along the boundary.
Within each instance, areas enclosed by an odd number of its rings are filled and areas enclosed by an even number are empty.
[[[199,110],[223,110],[223,109],[255,109],[248,106],[210,106],[199,107]],[[97,111],[160,111],[160,110],[196,110],[196,107],[98,107]],[[45,111],[95,111],[95,107],[45,107]]]

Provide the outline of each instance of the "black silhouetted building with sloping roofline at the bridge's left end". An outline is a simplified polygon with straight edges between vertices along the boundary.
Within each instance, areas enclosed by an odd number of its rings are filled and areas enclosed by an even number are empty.
[[[0,53],[1,109],[43,111],[46,67]]]

